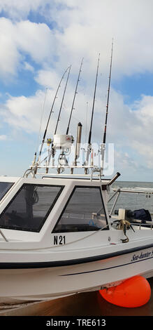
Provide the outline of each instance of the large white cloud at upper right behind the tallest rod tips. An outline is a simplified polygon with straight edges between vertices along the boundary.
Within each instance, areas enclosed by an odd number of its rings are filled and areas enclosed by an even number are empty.
[[[82,55],[94,70],[96,54],[101,52],[101,70],[107,72],[112,37],[115,39],[113,74],[152,72],[152,0],[89,1],[60,0],[48,10],[61,32],[57,33],[58,53],[64,66],[68,58],[77,62]]]

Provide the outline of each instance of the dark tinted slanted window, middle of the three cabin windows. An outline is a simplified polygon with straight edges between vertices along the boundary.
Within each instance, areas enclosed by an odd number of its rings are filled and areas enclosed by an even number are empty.
[[[0,227],[39,232],[63,186],[24,184],[0,215]]]

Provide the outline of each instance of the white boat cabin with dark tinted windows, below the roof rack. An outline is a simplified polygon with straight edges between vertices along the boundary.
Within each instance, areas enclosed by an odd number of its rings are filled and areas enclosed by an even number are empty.
[[[0,178],[0,230],[7,239],[108,230],[108,180]],[[21,233],[22,232],[22,233]],[[27,235],[26,235],[27,237]],[[3,237],[1,237],[3,239]]]

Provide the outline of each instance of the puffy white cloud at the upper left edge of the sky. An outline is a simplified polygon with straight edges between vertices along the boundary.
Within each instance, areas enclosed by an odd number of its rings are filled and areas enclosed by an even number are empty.
[[[44,23],[11,22],[0,18],[0,74],[9,78],[17,74],[22,67],[24,57],[29,55],[37,63],[52,62],[54,36],[48,25]],[[30,63],[29,63],[30,65]]]

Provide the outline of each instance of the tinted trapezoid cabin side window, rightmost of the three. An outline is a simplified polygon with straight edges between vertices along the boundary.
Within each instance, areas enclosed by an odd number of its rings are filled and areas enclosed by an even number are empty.
[[[53,232],[108,229],[100,187],[75,187]]]

